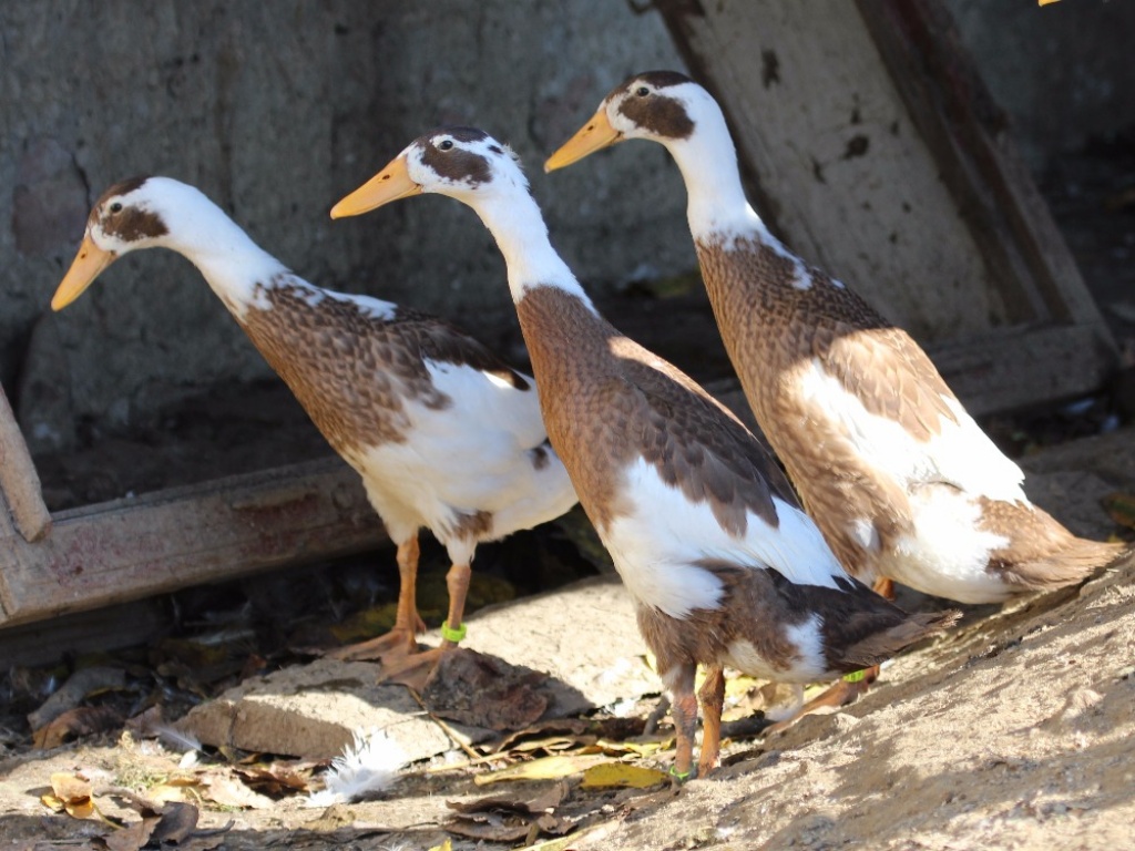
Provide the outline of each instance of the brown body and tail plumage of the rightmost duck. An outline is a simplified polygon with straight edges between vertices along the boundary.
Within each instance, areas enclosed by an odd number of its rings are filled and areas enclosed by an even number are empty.
[[[926,353],[850,289],[808,268],[810,286],[792,285],[798,267],[767,245],[737,241],[731,250],[696,243],[722,339],[770,444],[796,482],[808,513],[852,574],[872,573],[872,554],[848,520],[869,517],[881,551],[913,533],[910,499],[877,475],[846,441],[825,439],[794,391],[813,360],[864,407],[898,422],[919,440],[957,421],[956,401]],[[1084,541],[1035,506],[985,500],[983,529],[1011,545],[993,554],[992,571],[1023,588],[1083,579],[1119,554],[1118,545]]]

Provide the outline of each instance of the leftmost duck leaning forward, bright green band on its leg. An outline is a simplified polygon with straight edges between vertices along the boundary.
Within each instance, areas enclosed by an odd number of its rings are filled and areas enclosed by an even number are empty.
[[[577,503],[548,444],[531,377],[437,317],[308,283],[199,188],[170,177],[134,177],[102,194],[51,307],[74,302],[125,254],[158,247],[197,268],[362,478],[397,548],[394,627],[329,655],[380,659],[389,676],[420,686],[440,654],[465,635],[477,545],[550,521]],[[445,547],[452,566],[443,641],[419,652],[422,529]]]

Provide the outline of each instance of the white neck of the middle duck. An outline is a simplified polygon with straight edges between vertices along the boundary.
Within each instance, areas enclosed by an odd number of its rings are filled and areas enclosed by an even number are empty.
[[[540,208],[527,191],[480,199],[476,210],[504,255],[513,302],[519,303],[532,287],[552,286],[595,311],[591,300],[553,247]]]

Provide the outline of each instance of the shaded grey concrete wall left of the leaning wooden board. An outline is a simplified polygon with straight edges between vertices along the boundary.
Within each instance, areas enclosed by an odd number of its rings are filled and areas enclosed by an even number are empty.
[[[544,157],[642,68],[681,67],[662,22],[615,0],[32,0],[0,5],[0,380],[33,448],[76,422],[129,424],[225,378],[268,374],[192,267],[119,261],[75,305],[48,302],[112,182],[200,186],[309,279],[448,315],[489,344],[514,327],[504,266],[476,216],[427,197],[331,222],[345,192],[438,124],[476,124],[523,157],[553,235],[609,289],[644,258],[696,264],[664,151],[595,187]]]

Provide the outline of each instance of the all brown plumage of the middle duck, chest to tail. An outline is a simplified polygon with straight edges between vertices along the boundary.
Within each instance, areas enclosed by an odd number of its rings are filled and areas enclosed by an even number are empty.
[[[554,287],[529,288],[516,310],[533,371],[555,388],[541,395],[548,436],[600,533],[630,509],[617,503],[617,481],[639,457],[691,502],[707,503],[734,534],[743,533],[746,509],[776,525],[772,495],[797,505],[779,467],[726,408],[577,297]],[[721,660],[737,640],[788,671],[798,650],[784,629],[813,615],[823,618],[832,672],[855,671],[953,620],[952,614],[907,615],[850,580],[840,591],[796,585],[754,565],[700,566],[722,580],[720,608],[696,609],[679,620],[638,606],[639,627],[659,672]]]

